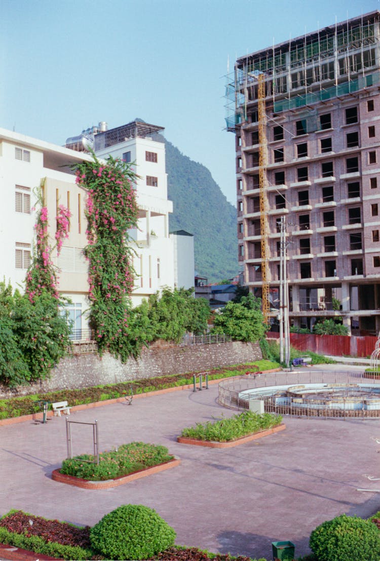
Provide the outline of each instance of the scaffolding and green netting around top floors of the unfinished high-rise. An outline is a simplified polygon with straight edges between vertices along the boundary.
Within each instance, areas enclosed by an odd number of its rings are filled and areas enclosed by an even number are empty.
[[[259,73],[274,113],[380,83],[379,73],[370,73],[379,64],[379,16],[371,12],[237,59],[227,75],[227,130],[235,132],[247,104],[258,102]]]

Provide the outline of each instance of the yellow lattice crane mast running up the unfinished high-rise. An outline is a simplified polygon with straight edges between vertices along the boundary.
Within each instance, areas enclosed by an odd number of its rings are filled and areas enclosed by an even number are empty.
[[[268,209],[267,209],[267,116],[265,114],[265,75],[258,76],[258,118],[259,118],[259,188],[260,188],[260,233],[262,301],[264,323],[269,323],[269,282],[268,282]]]

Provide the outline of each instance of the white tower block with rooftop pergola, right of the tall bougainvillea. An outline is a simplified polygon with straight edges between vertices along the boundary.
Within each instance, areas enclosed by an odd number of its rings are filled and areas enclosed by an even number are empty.
[[[134,269],[137,274],[132,293],[134,305],[164,286],[175,286],[174,247],[169,236],[169,213],[173,211],[173,203],[167,196],[162,131],[163,127],[132,121],[94,135],[97,157],[107,159],[111,155],[132,163],[132,169],[138,175],[139,220],[138,227],[130,231],[135,240]]]

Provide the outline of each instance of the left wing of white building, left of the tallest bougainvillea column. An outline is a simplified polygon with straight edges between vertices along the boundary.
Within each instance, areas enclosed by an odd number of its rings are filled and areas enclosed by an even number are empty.
[[[76,185],[70,165],[84,159],[90,159],[89,155],[0,128],[0,278],[24,291],[34,241],[34,189],[44,183],[53,240],[58,205],[68,206],[72,213],[69,237],[58,260],[55,253],[52,259],[61,269],[59,291],[72,301],[70,315],[77,330],[85,327],[81,314],[89,307],[88,265],[82,253],[86,245],[85,192]]]

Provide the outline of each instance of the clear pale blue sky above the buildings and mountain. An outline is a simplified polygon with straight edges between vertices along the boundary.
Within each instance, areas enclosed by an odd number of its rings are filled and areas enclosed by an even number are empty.
[[[236,57],[379,0],[0,0],[0,127],[63,145],[139,117],[235,204],[223,76]]]

